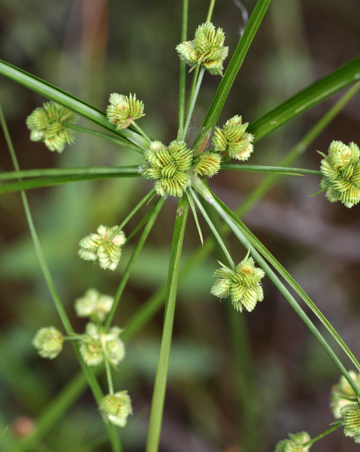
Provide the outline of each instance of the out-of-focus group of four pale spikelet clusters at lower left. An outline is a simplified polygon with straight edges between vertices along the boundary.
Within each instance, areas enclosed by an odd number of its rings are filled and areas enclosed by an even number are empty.
[[[53,326],[41,328],[33,339],[33,345],[43,358],[53,359],[62,351],[64,340],[76,341],[81,356],[88,366],[105,365],[116,366],[125,357],[125,345],[119,338],[123,332],[118,326],[106,329],[103,325],[106,315],[113,306],[114,298],[100,294],[96,289],[89,289],[83,297],[75,301],[75,310],[81,317],[90,317],[95,320],[85,326],[83,334],[72,333],[64,336]],[[99,410],[105,421],[119,427],[124,427],[129,414],[133,414],[131,399],[128,391],[112,393],[111,373],[107,372],[110,394],[105,395],[99,404]]]

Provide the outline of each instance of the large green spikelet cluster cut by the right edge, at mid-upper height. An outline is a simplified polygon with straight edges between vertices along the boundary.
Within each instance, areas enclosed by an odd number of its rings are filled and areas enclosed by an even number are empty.
[[[341,141],[332,141],[327,155],[321,154],[320,170],[323,179],[321,188],[326,188],[330,202],[341,201],[352,207],[360,201],[359,147],[355,143],[346,146]]]

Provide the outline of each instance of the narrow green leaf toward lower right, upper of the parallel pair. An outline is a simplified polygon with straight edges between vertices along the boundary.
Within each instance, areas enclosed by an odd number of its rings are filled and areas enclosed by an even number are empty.
[[[211,193],[211,196],[214,199],[214,206],[219,206],[221,211],[226,212],[226,216],[223,216],[224,221],[227,222],[226,218],[230,217],[234,223],[237,224],[239,230],[245,236],[246,240],[248,240],[251,245],[256,247],[256,249],[267,259],[270,264],[280,273],[280,275],[285,279],[286,282],[298,293],[298,295],[305,301],[305,303],[309,306],[309,308],[317,315],[317,317],[322,321],[323,325],[327,328],[327,330],[332,334],[333,338],[340,345],[340,347],[344,350],[344,352],[351,359],[352,363],[355,367],[360,371],[360,363],[355,358],[354,354],[351,352],[349,347],[345,344],[345,342],[341,339],[339,334],[327,320],[327,318],[322,314],[319,308],[315,305],[315,303],[308,297],[308,295],[303,291],[303,289],[299,286],[299,284],[294,280],[294,278],[289,274],[287,270],[275,259],[275,257],[268,251],[265,246],[258,240],[254,234],[244,225],[244,223],[220,200],[218,199],[211,190],[208,190]],[[229,225],[228,225],[229,226]]]

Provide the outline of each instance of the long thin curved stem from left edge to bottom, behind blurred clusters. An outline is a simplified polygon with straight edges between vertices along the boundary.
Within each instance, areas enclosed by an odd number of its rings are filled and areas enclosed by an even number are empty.
[[[4,135],[5,135],[5,140],[7,142],[7,145],[9,147],[9,151],[10,151],[10,155],[11,155],[11,159],[13,161],[14,164],[14,168],[16,171],[19,171],[19,163],[18,163],[18,159],[16,157],[15,154],[15,150],[14,150],[14,146],[13,143],[11,141],[11,137],[9,134],[9,130],[7,128],[6,122],[5,122],[5,117],[2,111],[2,108],[0,106],[0,123],[1,123],[1,127],[3,128],[4,131]],[[30,207],[28,205],[28,198],[25,194],[24,191],[21,192],[21,198],[24,204],[24,210],[25,210],[25,214],[26,214],[26,218],[28,221],[28,225],[29,225],[29,229],[30,229],[30,233],[31,236],[33,238],[33,243],[34,243],[34,247],[36,250],[36,254],[38,256],[38,260],[39,260],[39,264],[41,266],[41,269],[43,271],[43,275],[45,278],[45,281],[47,283],[47,287],[52,295],[52,299],[54,301],[55,307],[57,309],[57,312],[60,316],[60,319],[62,320],[62,325],[64,326],[64,329],[66,330],[66,333],[71,336],[74,334],[74,330],[71,326],[70,320],[68,318],[68,316],[66,315],[66,311],[64,309],[64,306],[62,305],[62,302],[60,300],[60,297],[57,294],[57,290],[55,288],[54,282],[52,280],[51,274],[50,274],[50,270],[47,267],[47,263],[45,260],[45,257],[43,255],[43,250],[41,248],[39,239],[38,239],[38,234],[35,230],[35,226],[33,223],[33,217],[31,215],[30,212]],[[83,372],[85,373],[86,379],[89,383],[89,386],[94,394],[95,400],[99,403],[99,401],[101,400],[101,398],[103,397],[103,393],[101,391],[101,388],[99,386],[98,381],[96,380],[96,378],[94,377],[93,372],[90,371],[89,367],[87,367],[87,365],[84,363],[81,354],[79,352],[79,349],[77,347],[77,344],[75,342],[72,342],[73,347],[75,349],[75,353],[76,356],[79,360],[79,363],[81,365],[81,368],[83,370]],[[112,448],[114,452],[120,452],[121,450],[121,445],[120,445],[120,441],[118,438],[118,434],[114,428],[113,425],[110,424],[106,424],[106,429],[108,430],[109,433],[109,438],[110,438],[110,442],[112,444]]]

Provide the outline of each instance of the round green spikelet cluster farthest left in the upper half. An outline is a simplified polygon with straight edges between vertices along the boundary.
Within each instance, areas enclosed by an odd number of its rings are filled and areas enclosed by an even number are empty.
[[[43,141],[50,151],[62,152],[66,143],[74,142],[74,132],[66,122],[74,124],[76,115],[55,102],[46,102],[26,118],[30,140]]]

